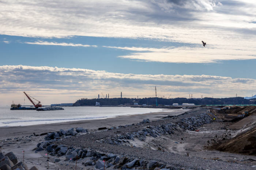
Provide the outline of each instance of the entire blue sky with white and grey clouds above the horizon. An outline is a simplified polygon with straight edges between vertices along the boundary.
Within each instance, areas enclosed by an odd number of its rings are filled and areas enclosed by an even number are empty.
[[[0,23],[0,105],[256,93],[253,0],[0,0]]]

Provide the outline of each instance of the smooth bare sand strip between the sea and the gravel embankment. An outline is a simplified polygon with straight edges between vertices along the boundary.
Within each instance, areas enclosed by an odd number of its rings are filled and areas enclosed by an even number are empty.
[[[170,112],[155,112],[155,113],[145,113],[139,115],[127,115],[118,116],[107,119],[94,119],[94,120],[80,120],[80,121],[69,121],[63,123],[53,123],[53,124],[39,124],[39,125],[29,125],[29,126],[14,126],[14,127],[0,127],[0,140],[6,138],[15,138],[21,136],[33,135],[33,133],[40,135],[45,132],[59,131],[60,129],[67,130],[72,127],[83,127],[85,129],[95,130],[99,127],[113,127],[119,125],[126,125],[132,123],[139,123],[143,119],[157,120],[163,116],[167,115],[180,115],[188,109],[174,109]]]

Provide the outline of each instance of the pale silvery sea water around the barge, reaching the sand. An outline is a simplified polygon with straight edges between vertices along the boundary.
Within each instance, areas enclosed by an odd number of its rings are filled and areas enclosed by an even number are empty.
[[[106,119],[120,115],[166,112],[167,109],[131,107],[63,107],[60,111],[10,110],[0,107],[0,127],[49,124],[66,121]]]

